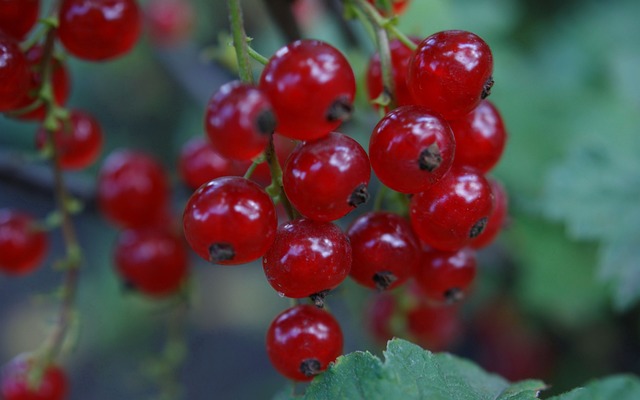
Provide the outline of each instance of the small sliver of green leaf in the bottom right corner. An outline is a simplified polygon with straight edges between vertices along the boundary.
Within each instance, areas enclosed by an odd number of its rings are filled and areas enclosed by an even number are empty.
[[[615,375],[593,381],[583,388],[554,396],[549,400],[637,400],[640,379],[631,375]]]

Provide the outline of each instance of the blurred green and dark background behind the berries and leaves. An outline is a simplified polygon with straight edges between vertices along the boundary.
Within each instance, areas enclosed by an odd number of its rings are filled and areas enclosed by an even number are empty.
[[[300,15],[304,36],[343,50],[362,82],[373,51],[366,32],[350,23],[357,43],[349,43],[326,2],[299,2],[307,7]],[[102,158],[120,147],[157,156],[173,179],[176,215],[189,196],[176,172],[180,147],[203,134],[208,97],[234,79],[226,68],[232,50],[221,36],[228,31],[224,3],[193,1],[196,25],[178,46],[158,47],[145,32],[120,59],[68,60],[69,106],[90,111],[102,123]],[[259,52],[268,56],[286,43],[262,1],[242,3],[247,33]],[[509,132],[493,174],[509,193],[510,223],[481,254],[479,282],[463,304],[463,339],[450,351],[505,375],[509,365],[511,372],[526,365],[525,374],[551,386],[548,393],[614,372],[640,372],[638,16],[635,0],[413,0],[399,19],[403,32],[423,37],[470,30],[493,50],[491,99]],[[359,90],[354,118],[342,130],[366,143],[376,113],[365,101],[364,86]],[[0,117],[0,157],[46,181],[46,166],[32,161],[36,128]],[[158,378],[145,366],[163,348],[174,311],[170,301],[156,304],[121,289],[111,266],[117,231],[94,204],[99,166],[67,176],[87,202],[75,219],[86,262],[77,348],[64,360],[71,398],[155,398]],[[0,181],[0,207],[45,216],[54,207],[51,194],[36,190],[28,182],[31,175],[25,176]],[[61,251],[54,238],[49,261]],[[258,263],[230,268],[195,256],[192,261],[189,352],[180,371],[186,398],[270,398],[286,380],[266,359],[264,334],[288,300],[271,289]],[[41,343],[59,282],[49,265],[28,277],[0,276],[0,362]],[[347,282],[330,298],[347,352],[379,351],[364,328],[368,296]],[[520,339],[482,342],[478,324],[494,319],[503,338]]]

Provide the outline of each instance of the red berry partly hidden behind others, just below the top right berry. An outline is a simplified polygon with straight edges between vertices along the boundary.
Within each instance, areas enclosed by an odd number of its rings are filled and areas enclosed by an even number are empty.
[[[449,121],[456,138],[456,165],[469,165],[487,173],[500,160],[507,141],[502,117],[489,100],[469,114]]]

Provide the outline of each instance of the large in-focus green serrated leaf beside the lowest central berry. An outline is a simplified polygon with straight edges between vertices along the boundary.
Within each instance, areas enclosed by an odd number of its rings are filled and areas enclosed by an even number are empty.
[[[512,384],[450,354],[434,354],[401,339],[389,341],[385,361],[354,352],[309,385],[303,399],[526,400],[537,399],[540,381]]]

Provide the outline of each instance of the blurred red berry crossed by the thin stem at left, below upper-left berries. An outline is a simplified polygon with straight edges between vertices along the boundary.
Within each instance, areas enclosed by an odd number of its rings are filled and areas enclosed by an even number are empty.
[[[100,155],[102,128],[90,114],[72,110],[68,123],[63,123],[53,134],[60,166],[64,169],[86,168]],[[36,133],[36,147],[42,150],[47,143],[47,132],[40,128]]]

